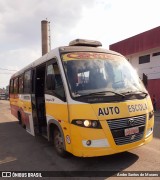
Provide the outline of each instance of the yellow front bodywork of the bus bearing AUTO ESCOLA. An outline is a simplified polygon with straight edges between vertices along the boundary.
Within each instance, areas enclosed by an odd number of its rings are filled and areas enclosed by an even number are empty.
[[[139,105],[140,109],[138,109],[138,106],[137,108],[134,108],[136,107],[136,105]],[[110,113],[109,115],[98,116],[99,108],[106,108],[106,107],[118,107],[120,109],[120,113],[119,114]],[[102,155],[119,153],[144,145],[150,142],[153,138],[152,133],[150,134],[150,136],[145,137],[147,130],[153,128],[154,125],[154,117],[148,120],[148,113],[153,110],[150,98],[144,100],[134,100],[134,101],[130,100],[130,101],[118,102],[118,103],[74,104],[74,105],[69,105],[69,108],[70,108],[70,118],[72,120],[99,119],[102,126],[102,129],[93,129],[93,128],[79,127],[71,124],[70,136],[72,142],[72,153],[76,156],[84,156],[84,157],[102,156]],[[133,142],[125,145],[116,145],[106,120],[134,117],[139,115],[146,115],[146,126],[144,130],[143,138],[137,142]],[[84,147],[84,145],[82,144],[83,140],[99,140],[99,139],[107,139],[107,141],[109,142],[109,146]]]

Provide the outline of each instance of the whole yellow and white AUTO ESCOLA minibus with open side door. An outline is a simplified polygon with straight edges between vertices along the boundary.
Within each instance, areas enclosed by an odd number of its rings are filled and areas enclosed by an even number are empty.
[[[153,106],[136,70],[100,46],[76,39],[11,77],[12,114],[60,156],[115,154],[153,138]]]

